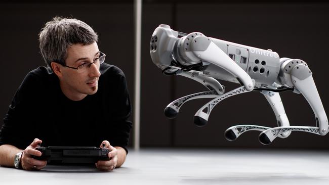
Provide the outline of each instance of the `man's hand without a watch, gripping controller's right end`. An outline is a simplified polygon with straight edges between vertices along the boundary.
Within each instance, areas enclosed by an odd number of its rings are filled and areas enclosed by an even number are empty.
[[[98,161],[96,167],[103,171],[112,171],[117,163],[117,151],[116,148],[112,147],[108,141],[103,141],[100,148],[105,144],[105,148],[108,148],[110,152],[108,153],[109,161]]]

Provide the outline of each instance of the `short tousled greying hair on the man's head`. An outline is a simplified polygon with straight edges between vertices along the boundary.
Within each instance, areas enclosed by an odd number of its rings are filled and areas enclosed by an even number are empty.
[[[54,17],[39,33],[40,53],[46,65],[51,62],[65,65],[67,49],[72,44],[89,45],[98,41],[97,33],[83,21]]]

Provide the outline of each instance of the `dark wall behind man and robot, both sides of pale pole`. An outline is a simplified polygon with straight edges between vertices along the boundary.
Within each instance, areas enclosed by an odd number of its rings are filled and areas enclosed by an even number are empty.
[[[54,16],[72,16],[95,29],[99,34],[99,48],[107,54],[106,62],[124,70],[133,99],[132,1],[68,2],[0,4],[1,117],[5,116],[26,73],[44,65],[38,53],[37,34]],[[329,136],[304,132],[293,132],[285,140],[278,138],[270,146],[258,142],[259,132],[256,131],[241,135],[235,142],[226,141],[224,131],[235,124],[276,125],[274,113],[259,92],[221,102],[212,111],[208,125],[202,128],[194,126],[193,116],[209,100],[188,102],[176,119],[167,119],[163,109],[171,101],[203,91],[204,87],[184,77],[163,76],[149,56],[150,37],[159,24],[169,24],[173,29],[186,33],[199,31],[223,40],[272,49],[280,57],[307,62],[323,106],[328,110],[328,8],[329,4],[319,3],[145,1],[142,15],[141,146],[329,149]],[[222,83],[227,90],[237,87],[237,84]],[[281,98],[292,125],[315,125],[314,114],[301,95],[283,92]],[[0,121],[0,126],[2,124]]]

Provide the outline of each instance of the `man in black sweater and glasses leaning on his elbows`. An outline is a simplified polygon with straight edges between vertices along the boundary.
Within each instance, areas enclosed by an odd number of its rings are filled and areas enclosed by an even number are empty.
[[[110,160],[98,161],[98,169],[111,171],[125,162],[132,127],[126,77],[103,63],[97,41],[82,21],[55,17],[46,23],[39,48],[48,67],[29,72],[16,91],[0,130],[0,165],[44,168],[47,161],[31,157],[41,155],[35,150],[40,144],[105,144]]]

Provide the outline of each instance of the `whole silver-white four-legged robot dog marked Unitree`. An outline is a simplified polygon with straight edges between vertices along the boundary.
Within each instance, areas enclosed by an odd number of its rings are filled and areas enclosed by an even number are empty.
[[[168,118],[175,118],[181,106],[187,101],[212,98],[194,115],[197,126],[207,124],[213,108],[222,100],[244,92],[260,91],[271,105],[277,119],[277,127],[258,125],[236,125],[225,131],[225,137],[234,141],[249,130],[259,130],[259,141],[269,145],[276,137],[285,138],[291,131],[304,131],[325,135],[328,119],[312,72],[299,59],[279,58],[271,50],[262,50],[233,42],[204,36],[200,32],[190,34],[174,31],[169,25],[159,25],[151,37],[150,55],[153,63],[165,75],[181,75],[191,78],[208,91],[188,95],[170,103],[165,109]],[[241,86],[225,93],[219,81],[240,83]],[[285,114],[280,91],[292,90],[302,94],[310,104],[316,119],[316,126],[290,126]]]

